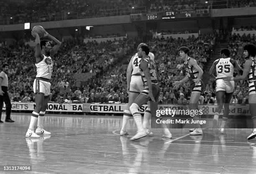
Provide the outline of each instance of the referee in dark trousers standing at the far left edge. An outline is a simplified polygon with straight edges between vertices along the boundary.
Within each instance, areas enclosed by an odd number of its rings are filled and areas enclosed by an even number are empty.
[[[3,123],[1,120],[2,116],[2,111],[3,111],[3,102],[5,102],[6,106],[6,118],[5,122],[10,122],[13,123],[14,121],[10,119],[10,113],[11,113],[11,102],[10,102],[10,97],[7,92],[8,88],[8,70],[9,70],[9,65],[8,64],[3,64],[3,71],[0,72],[0,123]]]

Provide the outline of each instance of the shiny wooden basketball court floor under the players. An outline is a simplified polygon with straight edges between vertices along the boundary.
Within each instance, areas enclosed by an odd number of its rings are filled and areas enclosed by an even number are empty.
[[[50,115],[44,128],[52,133],[25,138],[30,115],[12,113],[15,123],[0,123],[0,173],[3,165],[31,165],[35,174],[256,174],[256,139],[250,129],[229,129],[220,134],[205,129],[189,136],[188,129],[171,129],[173,138],[130,141],[119,136],[122,117]],[[2,116],[2,120],[5,114]],[[133,119],[128,132],[136,133]]]

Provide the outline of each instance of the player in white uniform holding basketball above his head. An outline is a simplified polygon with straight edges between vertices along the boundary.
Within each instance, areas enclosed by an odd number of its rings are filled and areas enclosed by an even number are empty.
[[[26,137],[39,138],[39,135],[51,135],[50,132],[44,130],[43,121],[50,95],[50,79],[53,71],[51,57],[57,53],[61,46],[61,42],[58,41],[54,36],[47,33],[41,26],[35,26],[31,34],[36,38],[36,79],[34,80],[33,84],[36,108],[32,113]],[[53,41],[56,45],[51,48],[51,44],[48,41],[40,41],[41,37]],[[36,132],[34,132],[36,122],[37,129]]]

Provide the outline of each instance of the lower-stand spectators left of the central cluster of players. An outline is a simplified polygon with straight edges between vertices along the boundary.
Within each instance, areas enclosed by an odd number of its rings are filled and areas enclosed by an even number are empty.
[[[117,69],[116,73],[123,78],[120,81],[116,80],[117,78],[112,80],[110,78],[114,77],[114,74],[108,70],[115,67],[117,59],[122,59],[126,54],[130,54],[136,44],[134,38],[101,43],[95,41],[83,43],[82,38],[79,37],[64,41],[61,49],[53,57],[54,69],[51,78],[50,102],[70,102],[70,100],[95,102],[95,100],[90,100],[92,93],[95,93],[96,98],[103,94],[108,97],[107,101],[123,101],[125,98],[126,102],[124,74],[120,74]],[[8,78],[11,100],[34,102],[33,81],[36,76],[34,49],[28,45],[16,44],[0,47],[0,55],[0,64],[8,63],[10,65]],[[77,73],[92,73],[95,76],[86,84],[77,85],[74,79],[74,74]],[[103,79],[100,80],[102,76]],[[66,88],[70,90],[61,91]],[[112,92],[113,90],[115,92]],[[101,101],[105,102],[105,100]]]

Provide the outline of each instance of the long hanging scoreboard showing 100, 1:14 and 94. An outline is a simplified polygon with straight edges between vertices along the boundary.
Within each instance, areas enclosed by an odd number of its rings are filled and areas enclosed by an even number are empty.
[[[131,14],[131,21],[142,20],[174,20],[182,18],[209,17],[209,9],[200,10],[169,10],[155,13],[137,13]]]

